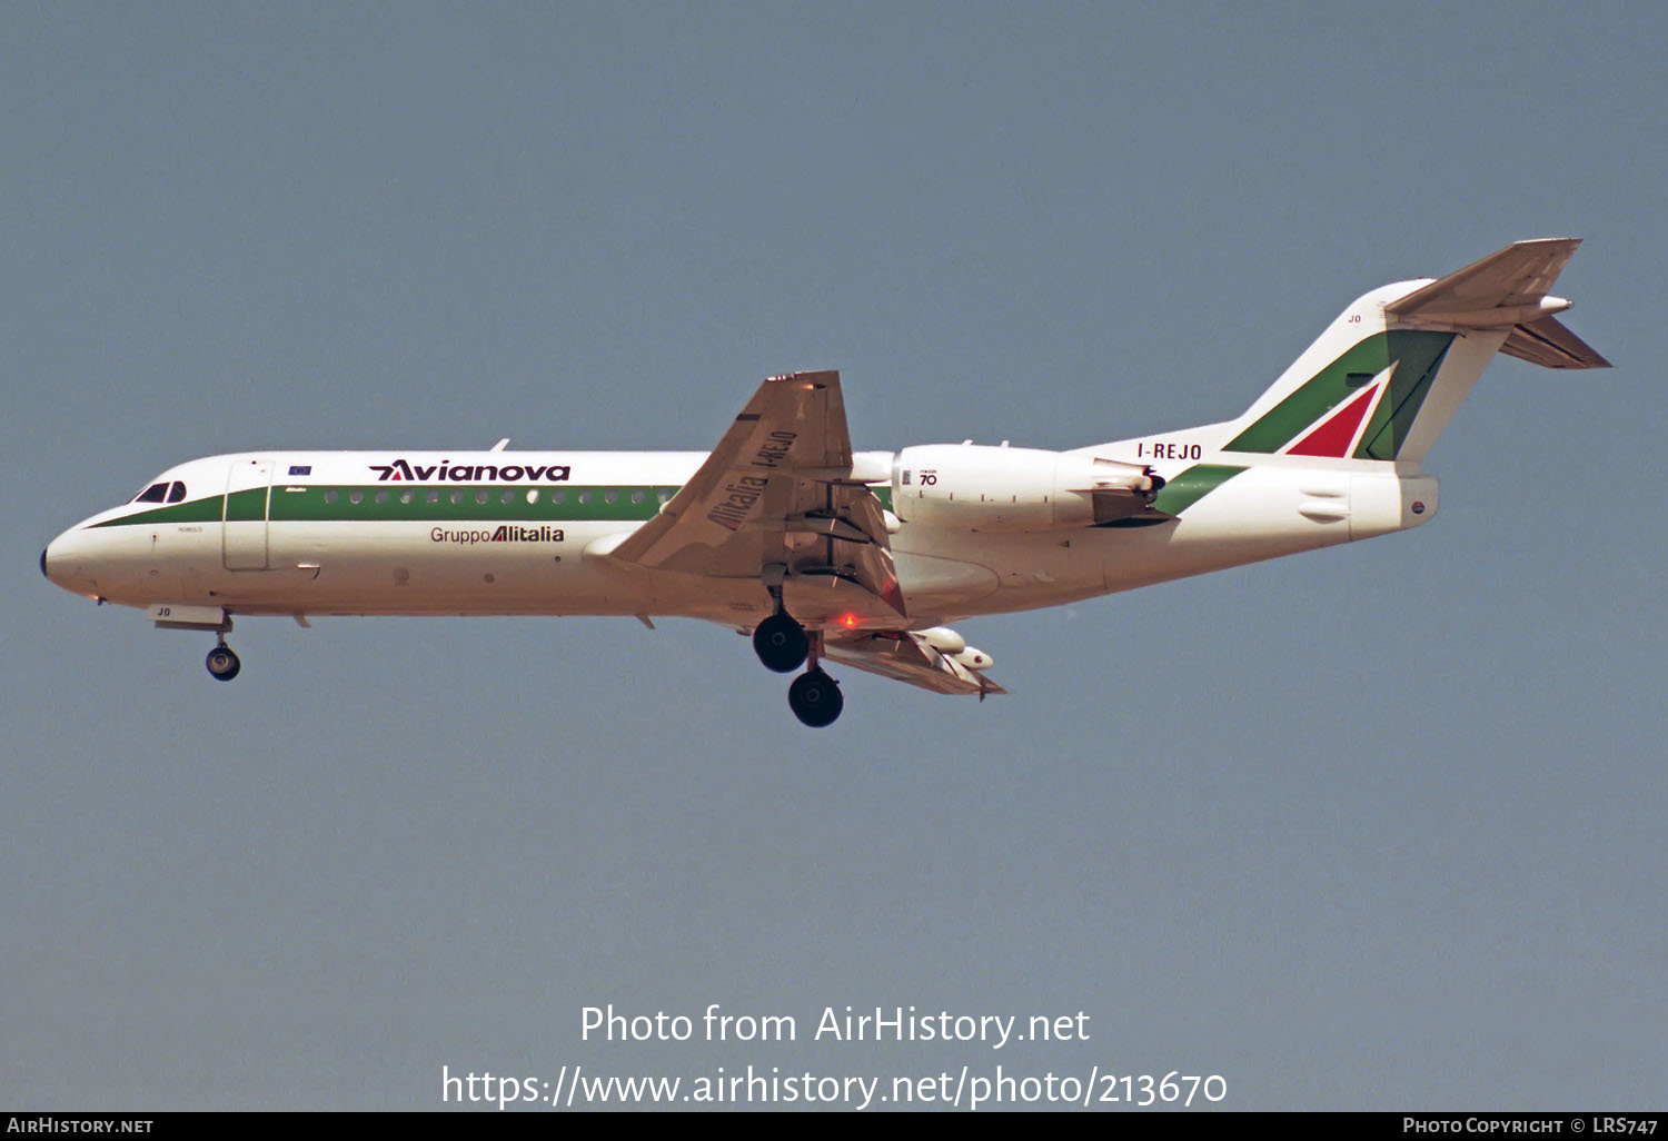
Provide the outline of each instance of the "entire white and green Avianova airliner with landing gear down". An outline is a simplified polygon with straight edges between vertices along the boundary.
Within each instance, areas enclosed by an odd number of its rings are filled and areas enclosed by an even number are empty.
[[[1241,417],[1068,452],[854,452],[837,372],[771,377],[711,452],[289,452],[168,469],[40,555],[55,584],[215,636],[234,616],[687,616],[804,672],[1006,692],[951,622],[1406,530],[1424,457],[1496,352],[1608,362],[1548,290],[1580,239],[1508,245],[1354,300]]]

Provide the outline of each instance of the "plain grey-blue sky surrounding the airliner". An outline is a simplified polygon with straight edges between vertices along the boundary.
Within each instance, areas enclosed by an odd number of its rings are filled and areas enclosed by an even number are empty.
[[[1660,5],[8,5],[0,1104],[439,1108],[440,1068],[1216,1073],[1231,1108],[1661,1108]],[[239,626],[42,582],[239,449],[859,447],[1243,410],[1511,240],[1408,535],[964,632],[802,731],[669,621]],[[580,1043],[580,1008],[794,1014]],[[812,1043],[824,1006],[1088,1043]]]

